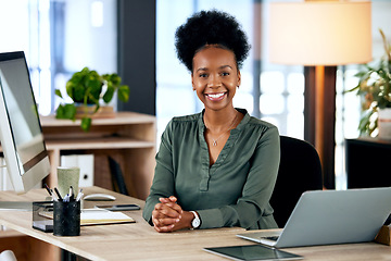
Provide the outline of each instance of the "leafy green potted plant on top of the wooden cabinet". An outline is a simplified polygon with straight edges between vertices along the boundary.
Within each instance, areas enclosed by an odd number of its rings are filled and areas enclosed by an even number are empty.
[[[81,119],[80,126],[88,132],[93,114],[101,109],[101,101],[109,103],[115,91],[117,91],[119,100],[126,102],[129,99],[129,87],[121,85],[121,80],[115,73],[100,75],[88,67],[74,73],[66,83],[66,94],[73,103],[60,104],[55,117],[75,121],[78,112],[80,114],[78,117]],[[64,99],[60,89],[55,89],[55,95]]]

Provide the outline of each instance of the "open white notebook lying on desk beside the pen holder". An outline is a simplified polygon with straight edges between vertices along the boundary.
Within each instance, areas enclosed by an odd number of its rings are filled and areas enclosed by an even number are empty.
[[[101,209],[84,209],[80,214],[80,225],[103,225],[118,223],[135,223],[136,221],[123,212]]]

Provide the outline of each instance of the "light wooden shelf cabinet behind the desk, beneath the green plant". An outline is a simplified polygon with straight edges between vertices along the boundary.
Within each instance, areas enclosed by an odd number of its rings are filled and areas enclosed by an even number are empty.
[[[61,156],[89,153],[94,158],[93,185],[112,190],[110,156],[119,163],[130,196],[147,198],[155,166],[154,116],[117,112],[115,117],[93,119],[88,133],[80,128],[79,120],[56,120],[53,115],[40,120],[52,167],[46,181],[49,186],[56,186]]]

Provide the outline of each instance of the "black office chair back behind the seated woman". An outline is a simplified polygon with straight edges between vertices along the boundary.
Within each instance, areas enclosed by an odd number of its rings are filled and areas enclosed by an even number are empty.
[[[280,164],[270,198],[274,217],[283,227],[300,196],[323,189],[321,165],[315,148],[301,139],[280,136]]]

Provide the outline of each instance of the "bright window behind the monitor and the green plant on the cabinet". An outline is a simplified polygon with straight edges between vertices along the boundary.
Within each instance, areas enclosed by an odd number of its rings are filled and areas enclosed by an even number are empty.
[[[42,115],[54,112],[54,89],[65,94],[74,72],[116,71],[116,1],[0,1],[0,52],[25,52]]]

